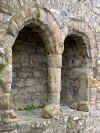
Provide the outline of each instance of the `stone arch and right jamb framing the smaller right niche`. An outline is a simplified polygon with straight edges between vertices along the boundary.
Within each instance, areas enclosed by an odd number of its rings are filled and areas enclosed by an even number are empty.
[[[86,47],[85,53],[88,58],[88,63],[86,66],[88,66],[88,68],[89,68],[89,70],[87,69],[88,74],[85,76],[82,76],[80,78],[80,81],[81,81],[80,86],[84,86],[84,85],[87,86],[87,89],[85,89],[86,90],[85,94],[86,94],[87,100],[86,101],[80,100],[78,103],[74,102],[75,104],[72,105],[72,108],[76,108],[76,109],[78,108],[79,110],[83,110],[83,111],[95,110],[96,109],[96,95],[97,95],[96,90],[99,85],[99,82],[95,77],[96,57],[97,57],[95,34],[92,31],[91,27],[86,22],[78,20],[78,19],[74,19],[74,18],[70,19],[64,26],[63,30],[64,30],[65,34],[67,33],[65,30],[66,27],[68,27],[68,37],[73,36],[73,34],[74,34],[74,36],[76,36],[76,38],[77,37],[80,38],[79,40],[81,40],[81,42],[83,42],[85,44],[85,47]],[[67,36],[65,37],[65,42],[66,42],[66,39],[67,39]],[[74,40],[77,40],[77,39],[74,39]],[[65,46],[65,48],[66,48],[66,46]],[[74,73],[73,73],[73,75],[74,75]],[[66,82],[67,82],[67,79],[66,79]],[[80,90],[81,89],[79,89],[79,95],[82,94]],[[63,93],[63,88],[62,88],[61,93]],[[78,97],[80,97],[79,95],[78,95]],[[67,100],[68,99],[66,99],[66,101]]]

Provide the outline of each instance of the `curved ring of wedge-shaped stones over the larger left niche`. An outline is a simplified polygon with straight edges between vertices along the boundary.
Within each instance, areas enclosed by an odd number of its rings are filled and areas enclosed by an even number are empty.
[[[9,21],[7,33],[16,39],[19,31],[30,23],[39,26],[44,31],[42,37],[47,45],[49,54],[62,54],[64,34],[47,9],[33,7],[19,10]],[[12,46],[13,42],[10,43],[9,47]]]

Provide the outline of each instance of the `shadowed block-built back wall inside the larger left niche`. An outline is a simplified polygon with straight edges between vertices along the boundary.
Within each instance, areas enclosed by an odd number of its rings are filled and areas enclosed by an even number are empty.
[[[12,48],[12,95],[16,108],[47,102],[47,53],[38,33],[42,31],[35,29],[27,26],[20,31]]]

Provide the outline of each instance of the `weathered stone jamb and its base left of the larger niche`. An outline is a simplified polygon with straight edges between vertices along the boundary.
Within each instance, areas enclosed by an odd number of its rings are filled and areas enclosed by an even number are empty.
[[[16,121],[16,114],[12,107],[11,83],[12,83],[12,50],[9,48],[0,51],[0,129],[5,130]]]

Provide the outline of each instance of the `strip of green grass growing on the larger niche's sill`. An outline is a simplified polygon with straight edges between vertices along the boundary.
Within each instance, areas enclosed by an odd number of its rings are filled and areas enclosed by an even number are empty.
[[[25,107],[19,107],[18,108],[18,111],[24,111],[24,110],[27,110],[27,111],[31,111],[31,110],[36,110],[36,109],[41,109],[41,108],[44,108],[45,105],[41,104],[39,106],[34,106],[34,105],[27,105]]]

